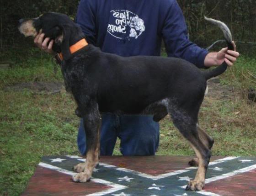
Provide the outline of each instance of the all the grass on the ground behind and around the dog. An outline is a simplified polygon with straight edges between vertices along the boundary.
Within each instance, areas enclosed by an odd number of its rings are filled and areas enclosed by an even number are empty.
[[[0,70],[0,195],[3,196],[18,196],[24,191],[43,155],[79,155],[76,147],[79,119],[74,113],[75,103],[65,90],[53,95],[38,95],[26,89],[6,90],[6,86],[22,82],[62,81],[60,70],[53,72],[49,56],[37,49],[30,53],[31,58],[12,59],[12,69]],[[240,99],[243,89],[256,87],[253,78],[249,78],[251,81],[243,76],[247,70],[256,73],[256,59],[241,57],[221,77],[222,84],[234,86],[234,98],[206,97],[203,102],[200,123],[215,138],[213,155],[256,155],[256,105]],[[169,117],[160,126],[158,155],[193,154]],[[118,145],[114,154],[120,154]]]

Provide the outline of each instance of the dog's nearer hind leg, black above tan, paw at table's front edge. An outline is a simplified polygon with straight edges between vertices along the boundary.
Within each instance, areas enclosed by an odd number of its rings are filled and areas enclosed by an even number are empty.
[[[197,114],[199,107],[186,106],[185,108],[186,110],[179,107],[172,107],[169,109],[169,113],[171,114],[174,125],[189,141],[198,157],[199,164],[196,177],[188,183],[186,190],[202,190],[204,187],[205,174],[211,157],[211,151],[204,145],[197,132]]]

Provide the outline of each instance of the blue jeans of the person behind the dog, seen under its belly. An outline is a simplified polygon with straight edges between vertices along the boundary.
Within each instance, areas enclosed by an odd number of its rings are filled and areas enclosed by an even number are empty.
[[[159,123],[153,116],[102,114],[101,155],[112,155],[117,137],[123,155],[155,155],[159,145]],[[81,118],[77,145],[82,155],[86,154],[86,136]]]

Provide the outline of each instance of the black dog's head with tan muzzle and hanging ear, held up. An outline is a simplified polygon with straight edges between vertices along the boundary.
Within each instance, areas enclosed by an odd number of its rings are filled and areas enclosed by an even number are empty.
[[[53,50],[62,52],[64,59],[71,56],[69,46],[84,37],[80,28],[68,16],[53,12],[37,18],[20,19],[18,28],[25,37],[35,37],[43,32],[45,37],[54,40]]]

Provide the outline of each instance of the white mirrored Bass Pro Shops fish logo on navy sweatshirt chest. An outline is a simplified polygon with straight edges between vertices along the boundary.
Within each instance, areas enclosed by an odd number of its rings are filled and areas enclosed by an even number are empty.
[[[110,11],[107,32],[118,39],[137,39],[145,31],[144,21],[128,10]]]

